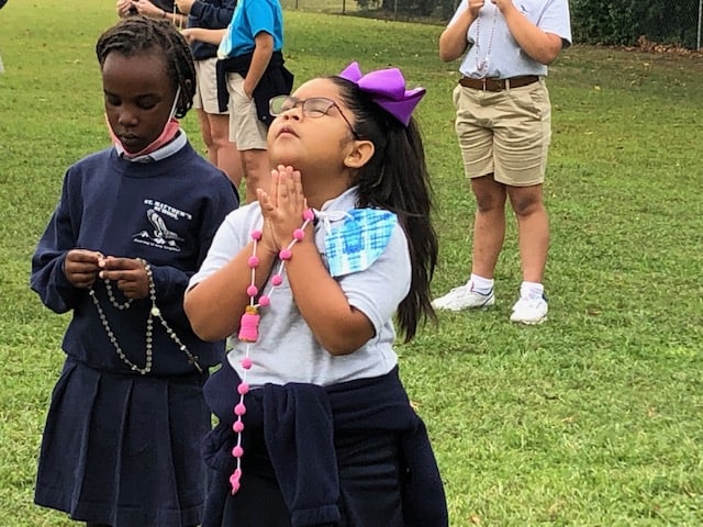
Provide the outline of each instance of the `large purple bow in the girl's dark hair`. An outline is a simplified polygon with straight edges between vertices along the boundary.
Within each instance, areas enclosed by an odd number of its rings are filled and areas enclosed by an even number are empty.
[[[405,90],[405,79],[398,68],[378,69],[361,74],[358,63],[352,63],[337,77],[342,77],[371,96],[371,100],[408,126],[413,110],[425,94],[424,88]]]

